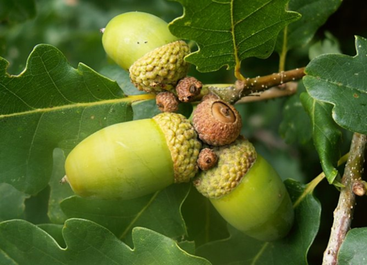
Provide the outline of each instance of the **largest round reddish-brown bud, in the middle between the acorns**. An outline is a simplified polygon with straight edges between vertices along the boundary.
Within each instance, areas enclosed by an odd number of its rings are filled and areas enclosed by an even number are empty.
[[[199,138],[208,145],[229,145],[242,128],[240,113],[224,100],[204,100],[193,112],[193,125]]]

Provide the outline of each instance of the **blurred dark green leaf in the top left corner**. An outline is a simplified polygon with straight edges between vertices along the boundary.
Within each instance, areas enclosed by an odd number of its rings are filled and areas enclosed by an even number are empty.
[[[15,24],[27,19],[31,19],[36,15],[36,7],[34,0],[0,0],[0,24]]]

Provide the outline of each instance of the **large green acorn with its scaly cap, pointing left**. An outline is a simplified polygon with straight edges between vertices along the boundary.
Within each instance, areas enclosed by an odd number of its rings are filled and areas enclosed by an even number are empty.
[[[133,199],[190,181],[201,147],[188,119],[160,113],[82,140],[66,158],[65,180],[81,197]]]

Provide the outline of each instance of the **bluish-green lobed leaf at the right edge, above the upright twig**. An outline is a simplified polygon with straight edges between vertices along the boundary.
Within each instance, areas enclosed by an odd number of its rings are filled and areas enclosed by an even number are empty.
[[[367,134],[367,39],[356,37],[357,55],[320,55],[307,65],[303,82],[312,98],[333,105],[341,127]]]

